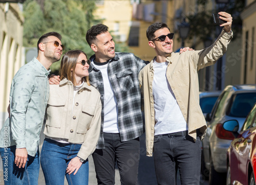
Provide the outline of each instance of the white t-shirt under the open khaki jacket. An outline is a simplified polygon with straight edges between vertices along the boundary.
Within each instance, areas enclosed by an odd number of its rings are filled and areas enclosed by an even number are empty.
[[[166,78],[167,65],[168,62],[153,62],[155,135],[176,133],[188,129],[173,90]]]

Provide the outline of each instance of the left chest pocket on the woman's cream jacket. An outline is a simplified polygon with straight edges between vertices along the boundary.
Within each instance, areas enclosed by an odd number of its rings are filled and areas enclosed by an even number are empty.
[[[47,103],[46,125],[60,128],[61,123],[66,120],[65,104],[66,98],[49,97]]]

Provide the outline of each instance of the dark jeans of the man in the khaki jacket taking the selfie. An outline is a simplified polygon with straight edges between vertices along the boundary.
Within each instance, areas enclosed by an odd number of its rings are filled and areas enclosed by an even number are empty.
[[[199,185],[201,169],[199,137],[194,142],[187,134],[157,135],[154,138],[153,156],[158,184],[176,184],[179,169],[181,184]]]

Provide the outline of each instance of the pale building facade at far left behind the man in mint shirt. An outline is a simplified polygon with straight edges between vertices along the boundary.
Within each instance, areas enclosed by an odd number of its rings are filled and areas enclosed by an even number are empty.
[[[8,117],[11,82],[25,64],[23,54],[22,5],[0,3],[0,127]]]

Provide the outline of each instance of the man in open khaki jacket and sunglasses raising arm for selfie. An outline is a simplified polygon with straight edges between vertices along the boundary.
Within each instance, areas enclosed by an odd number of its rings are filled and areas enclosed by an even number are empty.
[[[181,184],[199,184],[201,144],[206,122],[199,105],[197,71],[213,65],[224,55],[232,38],[232,17],[211,46],[182,54],[173,52],[173,37],[165,23],[148,27],[148,44],[157,56],[139,73],[144,98],[146,151],[154,152],[158,184],[176,184],[179,168]],[[154,148],[153,148],[154,146]]]

